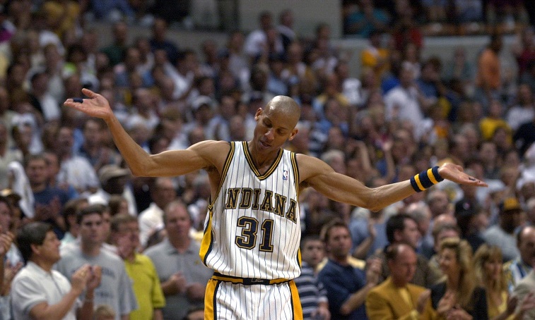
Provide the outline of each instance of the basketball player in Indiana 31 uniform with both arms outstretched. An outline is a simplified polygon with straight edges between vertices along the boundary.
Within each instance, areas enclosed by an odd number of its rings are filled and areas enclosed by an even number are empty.
[[[303,187],[337,202],[376,211],[447,178],[484,186],[461,167],[444,164],[411,180],[375,189],[336,173],[312,156],[282,149],[298,133],[300,106],[278,96],[258,109],[249,142],[203,141],[185,150],[149,155],[129,137],[100,94],[67,99],[104,119],[136,176],[180,176],[204,168],[211,184],[201,259],[214,270],[206,286],[206,319],[301,319],[298,193]]]

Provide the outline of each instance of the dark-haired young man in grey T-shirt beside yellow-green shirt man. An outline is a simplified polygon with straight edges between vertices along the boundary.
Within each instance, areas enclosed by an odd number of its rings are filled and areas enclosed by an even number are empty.
[[[116,312],[115,320],[129,319],[129,314],[138,308],[131,280],[124,262],[116,254],[102,250],[105,240],[104,209],[99,205],[89,206],[78,212],[76,223],[80,225],[80,242],[62,252],[54,269],[66,278],[76,277],[76,270],[84,264],[102,267],[102,281],[95,289],[94,303],[108,304]]]

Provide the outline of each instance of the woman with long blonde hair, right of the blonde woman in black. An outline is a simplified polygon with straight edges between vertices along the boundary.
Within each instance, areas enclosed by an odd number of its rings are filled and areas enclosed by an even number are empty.
[[[518,309],[517,298],[508,297],[500,247],[481,245],[474,254],[474,271],[478,284],[486,290],[488,319],[523,319],[524,312],[534,307],[535,297],[533,295],[522,300]],[[517,309],[516,313],[515,309]]]

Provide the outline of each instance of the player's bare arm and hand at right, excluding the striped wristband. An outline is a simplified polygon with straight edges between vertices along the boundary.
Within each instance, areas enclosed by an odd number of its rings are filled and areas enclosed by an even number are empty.
[[[336,173],[322,160],[304,154],[298,154],[297,159],[300,183],[314,187],[318,192],[337,202],[378,211],[416,193],[409,180],[371,189],[358,180]],[[438,172],[442,178],[455,183],[478,187],[487,186],[483,181],[464,173],[461,166],[443,164]]]

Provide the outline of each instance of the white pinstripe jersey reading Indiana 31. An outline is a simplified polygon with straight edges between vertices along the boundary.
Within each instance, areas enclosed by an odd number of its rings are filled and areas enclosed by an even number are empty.
[[[281,149],[263,175],[247,142],[231,142],[201,244],[206,266],[226,276],[299,276],[301,238],[295,154]]]

